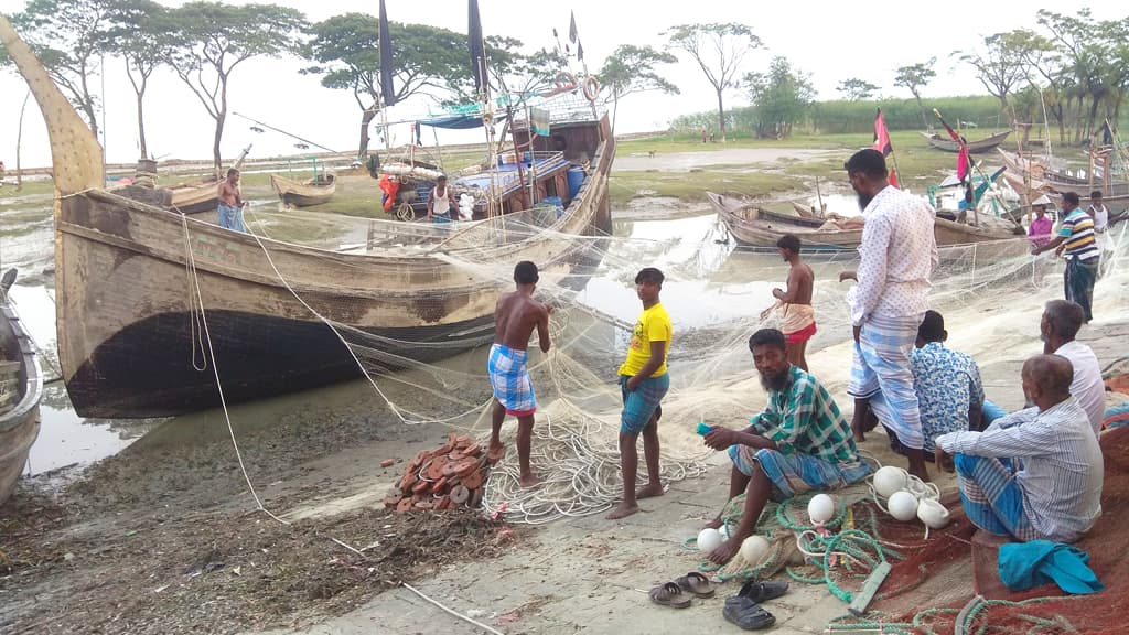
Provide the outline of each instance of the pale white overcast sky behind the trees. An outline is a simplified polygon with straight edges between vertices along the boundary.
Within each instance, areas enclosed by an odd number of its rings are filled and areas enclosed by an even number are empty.
[[[161,0],[174,6],[180,2]],[[244,3],[244,2],[234,2]],[[306,14],[310,21],[349,11],[377,12],[376,0],[281,0],[275,2]],[[571,0],[571,2],[519,2],[480,0],[487,35],[516,37],[526,52],[552,47],[552,29],[568,34],[569,11],[576,14],[588,70],[596,72],[620,44],[649,44],[666,49],[663,31],[675,24],[727,23],[749,25],[764,49],[745,59],[749,71],[767,70],[772,56],[787,58],[793,67],[811,75],[820,98],[837,98],[839,81],[859,78],[879,87],[879,95],[908,98],[904,88],[893,86],[895,69],[937,58],[937,78],[922,93],[926,97],[983,95],[987,90],[972,70],[955,60],[953,51],[970,51],[994,33],[1038,28],[1036,11],[1045,8],[1071,14],[1079,5],[1064,0],[1026,3],[949,0],[928,3],[850,3],[793,0],[790,2],[734,2],[695,0],[662,5],[639,0]],[[23,0],[0,0],[0,12],[23,9]],[[426,23],[465,33],[467,11],[463,0],[386,0],[388,19]],[[532,11],[532,7],[536,7]],[[1129,15],[1123,2],[1092,0],[1096,19],[1119,19]],[[677,85],[680,95],[637,94],[620,104],[620,133],[666,129],[679,114],[716,108],[716,97],[702,71],[685,54],[664,69]],[[104,94],[106,158],[132,163],[138,158],[137,113],[133,90],[125,77],[124,62],[107,59],[105,78],[96,79]],[[229,85],[229,108],[286,130],[334,150],[357,147],[360,110],[350,92],[323,88],[316,76],[299,75],[304,64],[295,59],[255,59],[239,66]],[[574,61],[574,71],[580,71]],[[104,86],[104,89],[103,89]],[[0,71],[0,160],[15,167],[16,137],[26,85],[18,75]],[[726,94],[727,105],[747,103],[739,92]],[[425,99],[409,101],[388,110],[390,121],[419,119],[435,107]],[[205,158],[211,156],[212,120],[196,97],[172,71],[159,70],[146,97],[146,136],[150,154],[158,159]],[[295,139],[275,132],[256,133],[251,122],[229,118],[221,151],[234,157],[248,143],[252,156],[301,155]],[[24,118],[21,158],[26,167],[50,165],[46,131],[35,101]],[[404,142],[409,128],[393,129],[393,140]],[[426,133],[426,143],[436,138]],[[481,131],[438,133],[440,143],[476,142]],[[374,145],[377,145],[374,141]]]

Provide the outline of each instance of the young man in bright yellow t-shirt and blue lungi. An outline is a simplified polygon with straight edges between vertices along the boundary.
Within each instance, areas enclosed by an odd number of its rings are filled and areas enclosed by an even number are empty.
[[[636,276],[636,294],[642,301],[642,314],[631,333],[628,358],[620,366],[620,392],[623,412],[620,416],[620,469],[623,472],[623,499],[612,510],[610,520],[630,516],[639,511],[639,498],[663,495],[658,467],[659,402],[671,388],[666,374],[666,354],[671,350],[674,328],[666,308],[658,301],[663,289],[663,272],[648,267]],[[639,453],[636,443],[642,433],[644,456],[647,460],[647,485],[636,492]]]

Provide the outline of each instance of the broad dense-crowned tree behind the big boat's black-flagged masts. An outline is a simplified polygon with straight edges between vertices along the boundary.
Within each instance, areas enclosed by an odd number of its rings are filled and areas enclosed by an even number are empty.
[[[322,86],[349,90],[361,110],[358,155],[368,154],[369,127],[380,112],[380,23],[367,14],[344,14],[310,27],[306,58],[317,66]],[[395,46],[393,87],[396,101],[412,95],[438,98],[470,80],[466,36],[422,24],[388,23]]]

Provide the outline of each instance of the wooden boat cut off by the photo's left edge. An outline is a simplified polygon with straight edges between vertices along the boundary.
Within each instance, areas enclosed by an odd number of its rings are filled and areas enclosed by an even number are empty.
[[[10,269],[0,284],[0,505],[11,496],[40,434],[43,375],[32,338],[8,303],[16,279]]]

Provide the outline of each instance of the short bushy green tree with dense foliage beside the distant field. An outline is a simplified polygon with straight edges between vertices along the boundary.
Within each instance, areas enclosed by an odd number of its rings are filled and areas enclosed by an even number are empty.
[[[756,136],[777,139],[791,134],[804,121],[815,98],[811,78],[795,71],[781,56],[772,58],[768,73],[753,72],[744,78],[756,115]]]

